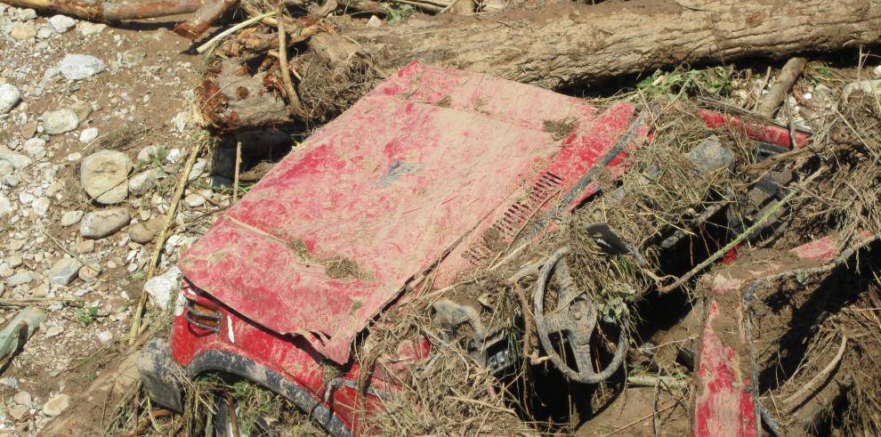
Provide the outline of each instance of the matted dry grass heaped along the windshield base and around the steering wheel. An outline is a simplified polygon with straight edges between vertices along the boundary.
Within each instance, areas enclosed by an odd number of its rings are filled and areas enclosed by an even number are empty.
[[[702,174],[687,158],[686,154],[706,140],[708,134],[693,108],[680,104],[668,106],[655,120],[654,131],[656,137],[651,147],[636,150],[627,159],[630,169],[624,177],[612,181],[609,174],[602,174],[598,178],[602,194],[563,223],[558,231],[529,243],[511,262],[497,269],[478,271],[457,287],[402,304],[395,311],[385,313],[369,329],[360,351],[361,362],[373,362],[373,357],[381,355],[394,356],[401,342],[418,336],[429,338],[433,348],[427,360],[416,361],[408,374],[401,376],[398,382],[402,390],[384,401],[383,411],[368,418],[367,429],[381,434],[511,435],[554,428],[553,424],[542,425],[530,420],[529,387],[540,384],[529,380],[531,366],[519,368],[520,373],[513,382],[509,379],[503,382],[489,375],[460,346],[468,335],[467,329],[450,338],[449,333],[432,327],[432,303],[441,298],[481,303],[481,320],[510,332],[512,349],[520,357],[518,361],[537,363],[539,351],[532,334],[535,328],[524,327],[524,320],[532,320],[534,275],[519,282],[529,302],[527,305],[522,305],[513,287],[503,282],[522,265],[544,258],[557,247],[569,245],[573,249],[569,256],[570,268],[579,287],[591,296],[601,315],[610,322],[603,323],[603,327],[613,329],[602,332],[601,338],[606,341],[602,341],[600,347],[612,348],[611,340],[618,336],[615,331],[621,326],[631,329],[629,327],[637,321],[637,315],[629,308],[656,283],[651,274],[646,274],[652,267],[640,267],[631,255],[603,253],[594,238],[586,233],[584,225],[610,223],[627,241],[633,242],[634,247],[640,248],[648,266],[654,266],[659,261],[659,251],[652,248],[652,244],[675,230],[697,235],[701,232],[697,223],[700,212],[711,206],[735,204],[735,194],[747,186],[727,169]],[[751,162],[739,132],[722,133],[720,139],[727,149],[734,150],[738,165]],[[512,247],[518,245],[519,242]],[[549,298],[554,299],[553,291]],[[527,336],[532,336],[532,341],[521,350]],[[538,366],[549,368],[550,365]],[[513,384],[527,387],[527,392],[514,393]],[[602,405],[617,390],[611,385],[603,388],[597,392],[594,402]],[[577,425],[577,420],[572,425]]]

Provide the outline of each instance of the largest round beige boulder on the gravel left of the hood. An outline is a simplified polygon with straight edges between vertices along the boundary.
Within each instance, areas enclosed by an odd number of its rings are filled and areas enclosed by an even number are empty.
[[[79,182],[90,198],[113,205],[128,196],[128,173],[132,160],[118,150],[99,150],[83,159]]]

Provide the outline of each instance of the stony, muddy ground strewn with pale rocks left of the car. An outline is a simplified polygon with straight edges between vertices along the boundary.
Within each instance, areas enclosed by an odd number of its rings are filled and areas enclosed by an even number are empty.
[[[48,19],[0,4],[0,84],[20,93],[20,103],[0,113],[0,315],[11,320],[28,304],[45,312],[0,379],[0,429],[21,433],[34,433],[57,415],[67,395],[85,389],[125,350],[150,239],[174,174],[198,141],[189,119],[200,60],[183,53],[190,44],[170,23],[109,28],[72,20],[59,29]],[[69,55],[93,56],[101,71],[69,79],[60,70]],[[65,109],[75,114],[63,127],[69,132],[47,132],[47,113]],[[88,138],[94,130],[97,137]],[[117,158],[129,160],[132,174],[160,168],[164,174],[152,187],[136,187],[137,194],[97,205],[84,190],[80,167],[99,150],[121,152]],[[158,153],[150,158],[150,150]],[[206,172],[205,164],[198,173]],[[190,200],[185,215],[223,202]],[[126,223],[101,238],[84,237],[84,214],[118,208],[129,216]],[[141,232],[139,242],[132,232]],[[188,235],[187,226],[177,227],[166,257],[174,257]],[[100,269],[87,273],[84,265]],[[160,271],[168,265],[164,261]]]

